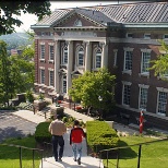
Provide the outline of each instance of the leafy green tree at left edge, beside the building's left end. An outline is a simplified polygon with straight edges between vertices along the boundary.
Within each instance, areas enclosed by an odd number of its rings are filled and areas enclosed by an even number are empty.
[[[7,44],[0,41],[0,101],[9,105],[16,93],[31,91],[34,85],[34,48],[25,47],[23,53],[8,57]]]

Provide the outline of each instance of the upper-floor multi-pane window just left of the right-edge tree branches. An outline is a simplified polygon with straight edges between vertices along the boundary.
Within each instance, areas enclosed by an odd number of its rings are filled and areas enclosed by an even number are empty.
[[[141,73],[148,73],[151,52],[142,52]]]

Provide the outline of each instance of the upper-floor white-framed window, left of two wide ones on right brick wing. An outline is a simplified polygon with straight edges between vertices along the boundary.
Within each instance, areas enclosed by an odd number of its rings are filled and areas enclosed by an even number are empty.
[[[132,74],[133,48],[123,48],[123,50],[124,50],[123,73]],[[127,59],[128,57],[131,57],[130,60]]]

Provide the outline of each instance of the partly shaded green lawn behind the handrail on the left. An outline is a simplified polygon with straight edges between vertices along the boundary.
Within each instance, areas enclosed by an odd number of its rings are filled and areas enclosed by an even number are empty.
[[[26,147],[36,148],[34,136],[24,139],[11,139],[4,142],[5,144],[15,144]],[[3,144],[3,143],[2,143]],[[19,168],[20,167],[20,148],[14,146],[3,146],[0,144],[0,168]],[[33,152],[22,149],[22,168],[33,167]],[[39,168],[40,154],[35,152],[35,168]]]

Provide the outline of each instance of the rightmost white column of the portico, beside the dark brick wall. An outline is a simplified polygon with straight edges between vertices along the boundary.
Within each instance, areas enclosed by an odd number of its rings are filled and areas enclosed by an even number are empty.
[[[103,46],[103,52],[101,52],[101,68],[108,67],[108,44],[101,43]]]

